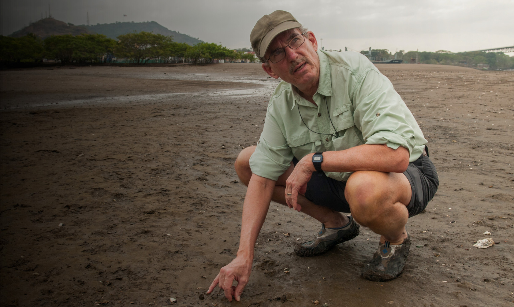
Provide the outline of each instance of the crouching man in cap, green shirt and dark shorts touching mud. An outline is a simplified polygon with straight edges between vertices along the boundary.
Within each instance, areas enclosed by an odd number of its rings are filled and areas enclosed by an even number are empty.
[[[248,186],[239,249],[207,293],[218,285],[229,301],[241,299],[271,200],[321,223],[314,241],[295,248],[298,256],[321,255],[355,238],[361,224],[380,235],[362,276],[398,277],[411,244],[407,219],[425,209],[438,186],[412,113],[365,56],[318,50],[314,33],[288,12],[263,16],[250,41],[263,69],[282,82],[258,144],[235,162]]]

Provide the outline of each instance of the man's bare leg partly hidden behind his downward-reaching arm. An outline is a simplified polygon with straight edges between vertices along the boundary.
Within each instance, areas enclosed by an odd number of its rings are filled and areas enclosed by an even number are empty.
[[[235,170],[237,172],[237,176],[239,176],[239,179],[241,182],[243,182],[246,186],[248,186],[248,182],[250,181],[250,178],[252,176],[252,171],[250,169],[250,156],[253,154],[253,151],[255,151],[255,147],[247,147],[241,151],[239,156],[237,156],[237,159],[234,163]],[[275,186],[275,189],[273,191],[273,197],[272,200],[274,202],[286,205],[285,200],[285,185],[286,185],[286,179],[291,174],[291,171],[295,168],[295,166],[292,165],[287,169],[282,176],[279,177],[277,180],[277,185]],[[337,211],[334,211],[332,209],[329,209],[324,206],[318,206],[315,203],[309,201],[305,198],[305,196],[300,195],[298,198],[298,202],[302,206],[301,212],[305,213],[308,216],[313,217],[314,219],[318,220],[320,223],[324,223],[325,227],[332,228],[332,227],[341,227],[348,223],[348,218]]]

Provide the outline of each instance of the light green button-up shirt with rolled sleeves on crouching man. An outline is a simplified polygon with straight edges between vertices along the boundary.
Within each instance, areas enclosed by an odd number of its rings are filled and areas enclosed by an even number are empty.
[[[320,79],[313,97],[318,106],[303,99],[295,86],[280,82],[250,158],[252,172],[277,180],[293,156],[300,160],[311,152],[362,144],[402,146],[409,150],[410,162],[419,158],[427,140],[389,79],[357,52],[318,50],[318,56]],[[352,173],[325,174],[346,181]]]

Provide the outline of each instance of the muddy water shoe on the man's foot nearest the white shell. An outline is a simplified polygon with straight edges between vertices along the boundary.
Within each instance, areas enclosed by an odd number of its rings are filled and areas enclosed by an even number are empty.
[[[372,281],[389,281],[400,276],[407,262],[410,246],[410,236],[398,245],[390,244],[388,241],[379,243],[373,259],[364,266],[362,277]]]

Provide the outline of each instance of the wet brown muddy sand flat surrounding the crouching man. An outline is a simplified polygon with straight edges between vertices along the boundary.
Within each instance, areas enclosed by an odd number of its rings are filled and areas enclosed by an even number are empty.
[[[514,72],[378,67],[440,179],[409,219],[405,271],[360,276],[378,241],[365,227],[297,257],[320,225],[272,203],[232,303],[204,293],[235,257],[245,187],[233,163],[277,81],[257,64],[0,71],[1,305],[514,306]],[[473,247],[486,237],[496,244]]]

